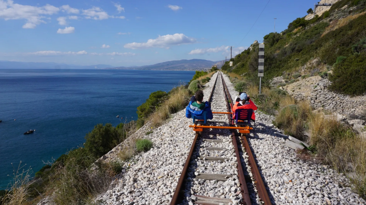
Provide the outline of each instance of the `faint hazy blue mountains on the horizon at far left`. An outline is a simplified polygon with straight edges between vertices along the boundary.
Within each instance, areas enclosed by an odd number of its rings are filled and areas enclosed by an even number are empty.
[[[14,62],[14,61],[0,61],[0,69],[102,69],[106,67],[113,67],[111,65],[90,65],[79,66],[69,65],[64,63],[35,63],[35,62]]]

